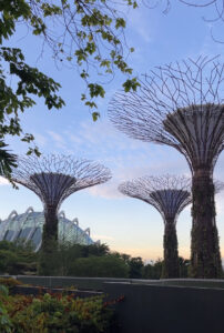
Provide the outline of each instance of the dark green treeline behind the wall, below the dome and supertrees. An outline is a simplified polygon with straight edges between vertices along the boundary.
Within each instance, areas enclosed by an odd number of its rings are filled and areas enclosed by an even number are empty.
[[[53,246],[54,248],[54,246]],[[23,242],[0,242],[0,274],[38,274],[40,253]],[[48,258],[50,275],[157,280],[163,261],[112,252],[106,244],[60,244]],[[189,260],[180,258],[180,275],[187,278]]]

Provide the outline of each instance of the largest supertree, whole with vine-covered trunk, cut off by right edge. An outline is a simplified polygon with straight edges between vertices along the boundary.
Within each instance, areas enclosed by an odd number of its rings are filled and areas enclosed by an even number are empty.
[[[129,137],[167,144],[192,171],[191,269],[195,278],[217,278],[221,254],[215,223],[213,170],[224,147],[224,64],[218,58],[157,67],[139,91],[118,92],[109,117]]]

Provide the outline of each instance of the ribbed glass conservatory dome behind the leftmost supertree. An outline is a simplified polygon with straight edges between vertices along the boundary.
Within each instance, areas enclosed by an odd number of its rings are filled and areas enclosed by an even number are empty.
[[[34,212],[32,208],[23,214],[12,211],[7,220],[0,221],[0,241],[31,241],[38,251],[41,246],[43,223],[43,212]],[[90,238],[90,229],[82,230],[78,219],[68,220],[63,211],[59,213],[59,241],[83,245],[94,243]]]

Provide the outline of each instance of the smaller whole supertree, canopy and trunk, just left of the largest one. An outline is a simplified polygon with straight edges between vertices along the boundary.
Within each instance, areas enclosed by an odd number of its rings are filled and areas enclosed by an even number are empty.
[[[162,278],[179,278],[176,220],[191,203],[191,180],[185,176],[142,176],[119,186],[120,192],[152,204],[164,221],[164,262]]]

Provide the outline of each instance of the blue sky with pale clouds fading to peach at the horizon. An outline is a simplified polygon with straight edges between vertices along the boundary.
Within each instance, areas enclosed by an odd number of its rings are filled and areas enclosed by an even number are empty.
[[[222,39],[224,24],[211,22],[213,8],[195,9],[173,1],[167,13],[163,13],[165,1],[149,9],[141,6],[126,13],[126,40],[135,52],[129,58],[134,74],[141,75],[153,67],[182,59],[196,59],[198,56],[221,54],[224,44],[213,40]],[[141,175],[185,174],[189,165],[183,155],[173,148],[155,145],[129,139],[110,123],[106,110],[114,92],[121,89],[124,78],[115,79],[104,88],[106,97],[99,101],[100,119],[92,121],[90,111],[80,101],[85,89],[77,70],[57,69],[50,50],[44,49],[40,57],[41,41],[28,31],[19,28],[9,41],[21,48],[30,65],[38,67],[47,75],[62,85],[61,97],[65,107],[49,111],[43,101],[27,110],[21,121],[24,130],[35,137],[35,143],[43,154],[70,154],[99,161],[111,169],[112,180],[105,184],[82,190],[68,198],[61,206],[67,218],[78,218],[82,229],[90,228],[93,240],[106,243],[112,251],[142,256],[143,260],[156,260],[163,256],[163,220],[151,205],[136,199],[123,196],[118,191],[122,181]],[[18,154],[26,152],[26,145],[9,138],[10,149]],[[224,154],[217,160],[214,176],[224,181]],[[7,219],[12,210],[23,213],[28,206],[42,210],[39,198],[20,186],[14,190],[0,179],[1,210],[0,219]],[[224,258],[224,193],[216,195],[216,221],[220,245]],[[191,206],[187,206],[177,220],[179,252],[190,256]]]

